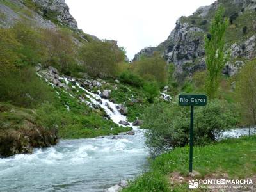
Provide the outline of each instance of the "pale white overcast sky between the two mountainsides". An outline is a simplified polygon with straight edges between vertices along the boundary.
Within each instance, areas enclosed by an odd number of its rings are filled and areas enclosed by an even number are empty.
[[[144,47],[166,40],[182,15],[214,0],[66,0],[85,33],[117,40],[131,60]]]

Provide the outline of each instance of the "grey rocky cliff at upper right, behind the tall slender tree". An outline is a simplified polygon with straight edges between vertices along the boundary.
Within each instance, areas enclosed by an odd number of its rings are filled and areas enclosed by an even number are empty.
[[[154,51],[159,51],[168,63],[174,63],[177,76],[204,70],[204,38],[220,4],[225,7],[225,16],[230,20],[225,38],[226,48],[232,52],[231,60],[223,72],[230,76],[236,74],[244,61],[256,56],[255,0],[218,0],[209,6],[200,7],[193,15],[180,17],[166,41],[157,47],[141,50],[134,60],[138,60],[141,55],[151,56]]]

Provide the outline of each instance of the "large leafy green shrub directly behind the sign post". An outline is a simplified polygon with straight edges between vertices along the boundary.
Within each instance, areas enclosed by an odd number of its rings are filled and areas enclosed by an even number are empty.
[[[195,108],[195,145],[211,143],[221,131],[235,127],[238,114],[233,104],[212,100],[205,107]],[[188,145],[189,108],[178,104],[152,104],[145,110],[143,128],[146,144],[152,154],[159,154],[168,148]]]

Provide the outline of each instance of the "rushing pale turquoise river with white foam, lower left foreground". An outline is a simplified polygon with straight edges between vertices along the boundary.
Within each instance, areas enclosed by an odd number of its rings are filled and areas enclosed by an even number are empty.
[[[33,154],[0,159],[0,189],[102,191],[120,179],[132,179],[147,168],[143,132],[137,133],[116,140],[61,140]]]

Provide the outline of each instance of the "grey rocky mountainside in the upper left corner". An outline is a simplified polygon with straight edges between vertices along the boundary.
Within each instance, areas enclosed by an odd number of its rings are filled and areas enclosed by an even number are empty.
[[[29,20],[40,27],[67,26],[77,30],[77,22],[70,15],[65,0],[12,0],[0,2],[0,26],[9,27],[15,22]]]

